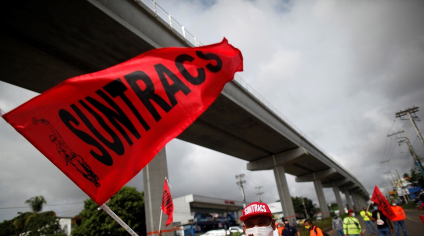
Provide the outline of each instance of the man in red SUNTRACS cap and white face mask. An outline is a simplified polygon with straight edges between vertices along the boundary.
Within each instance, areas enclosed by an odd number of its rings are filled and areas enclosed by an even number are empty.
[[[247,236],[273,236],[275,220],[265,203],[254,202],[245,207],[240,220],[244,223],[243,232]]]

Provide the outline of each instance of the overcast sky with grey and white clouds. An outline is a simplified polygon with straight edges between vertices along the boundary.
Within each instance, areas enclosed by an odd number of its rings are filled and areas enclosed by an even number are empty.
[[[244,57],[238,75],[372,194],[390,186],[390,163],[403,175],[414,167],[406,144],[388,134],[404,129],[415,151],[424,148],[409,120],[395,113],[424,109],[424,1],[388,0],[156,0],[204,45],[226,37]],[[1,80],[1,78],[0,78]],[[37,95],[0,82],[5,112]],[[420,110],[416,115],[424,119]],[[416,122],[423,132],[423,121]],[[400,136],[398,136],[400,137]],[[78,214],[87,195],[0,119],[0,222],[29,211]],[[247,202],[257,187],[267,203],[279,199],[272,171],[247,171],[246,161],[180,140],[167,147],[171,194],[242,200],[236,175],[245,174]],[[207,167],[207,168],[206,168]],[[312,182],[287,175],[291,196],[318,204]],[[143,190],[142,174],[128,183]],[[332,189],[324,189],[335,202]],[[342,195],[343,200],[345,196]]]

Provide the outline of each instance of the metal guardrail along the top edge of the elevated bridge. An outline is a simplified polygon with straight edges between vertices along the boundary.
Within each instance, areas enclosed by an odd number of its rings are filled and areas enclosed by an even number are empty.
[[[151,15],[153,15],[159,22],[164,24],[168,29],[173,31],[179,38],[184,40],[191,47],[204,46],[197,38],[191,34],[187,29],[184,28],[177,20],[171,16],[165,9],[156,3],[155,0],[134,0],[141,7],[147,10]],[[246,89],[253,97],[255,97],[259,102],[261,102],[265,107],[267,107],[271,112],[273,112],[277,117],[281,118],[287,125],[289,125],[295,132],[298,133],[305,141],[315,146],[318,151],[328,157],[332,162],[337,163],[324,149],[320,148],[312,139],[310,139],[305,133],[303,133],[296,125],[294,125],[288,118],[286,118],[277,108],[275,108],[271,103],[269,103],[264,97],[262,97],[256,90],[247,84],[239,75],[234,76],[234,81],[240,85],[242,88]],[[340,166],[346,173],[349,171],[345,170]],[[354,178],[354,177],[353,177]],[[358,181],[358,183],[360,183]],[[363,186],[362,186],[363,187]],[[364,188],[365,189],[365,188]]]

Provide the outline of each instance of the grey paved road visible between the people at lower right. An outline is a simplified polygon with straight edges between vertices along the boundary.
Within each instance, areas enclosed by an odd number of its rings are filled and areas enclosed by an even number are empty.
[[[408,236],[424,236],[424,224],[423,221],[420,219],[420,215],[424,215],[424,210],[420,209],[405,209],[406,213],[406,220],[405,220],[405,227],[406,227],[406,233]],[[359,219],[359,222],[362,227],[362,233],[364,236],[368,236],[367,229],[365,227],[364,221],[362,220],[362,217],[356,217]],[[375,225],[375,228],[377,229],[377,225]],[[400,236],[403,236],[403,232],[401,229],[399,229]],[[330,236],[337,236],[337,233],[335,231],[329,231],[327,232]],[[392,236],[395,236],[396,233],[393,232],[391,234]],[[373,235],[376,236],[376,235]]]

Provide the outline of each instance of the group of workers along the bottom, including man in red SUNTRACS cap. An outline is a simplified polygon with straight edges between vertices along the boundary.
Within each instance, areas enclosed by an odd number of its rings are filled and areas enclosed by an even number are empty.
[[[397,206],[395,201],[391,201],[391,209],[396,215],[393,220],[386,217],[383,211],[379,209],[378,204],[374,203],[373,209],[371,213],[369,209],[362,207],[359,212],[369,235],[391,236],[393,232],[396,232],[396,236],[400,236],[401,229],[403,235],[407,236],[404,224],[405,211],[402,207]],[[244,223],[243,232],[246,236],[300,236],[295,221],[292,225],[288,220],[284,220],[284,224],[276,223],[268,205],[265,203],[254,202],[245,207],[240,220]],[[310,219],[305,220],[304,227],[309,231],[310,236],[328,236]],[[332,220],[332,229],[337,232],[338,236],[363,236],[361,225],[353,209],[348,210],[348,216],[344,219],[335,215]]]

